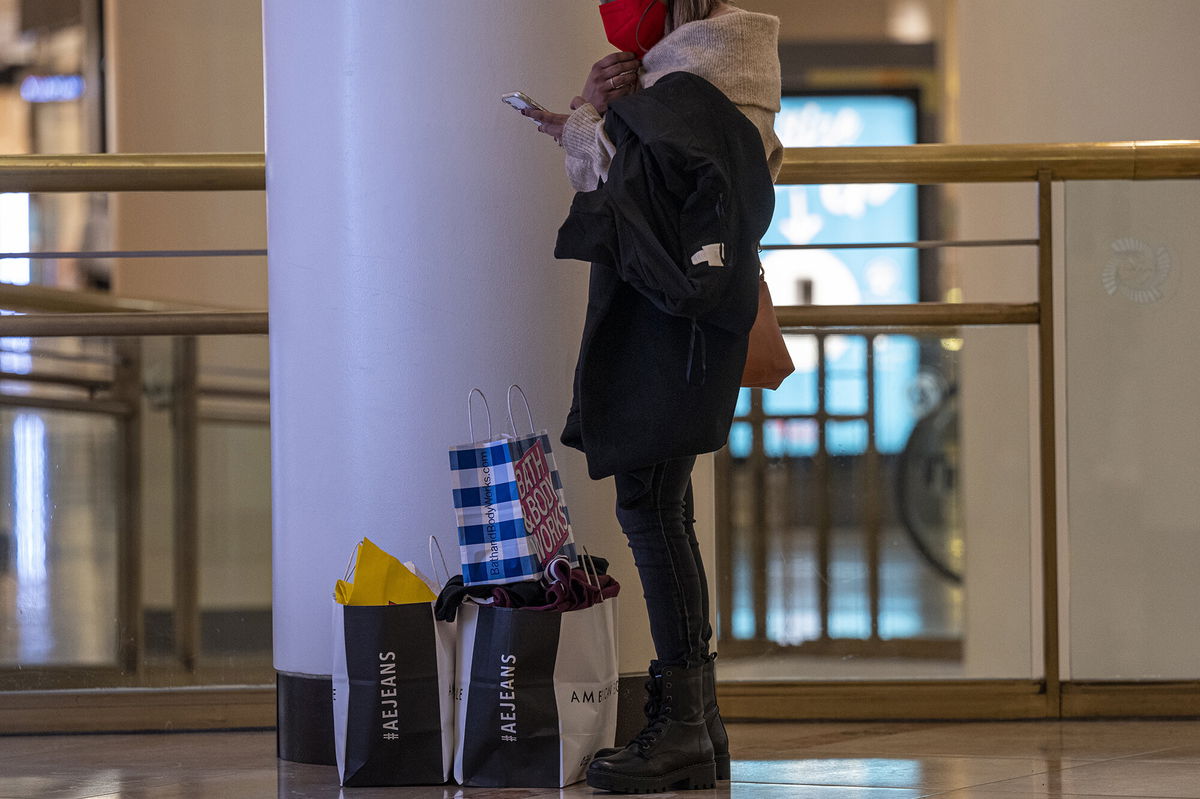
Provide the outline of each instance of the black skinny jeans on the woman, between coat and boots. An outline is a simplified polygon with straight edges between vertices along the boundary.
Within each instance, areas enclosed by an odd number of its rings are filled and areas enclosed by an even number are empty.
[[[704,662],[713,637],[691,495],[695,464],[689,456],[614,477],[617,521],[642,579],[654,649],[664,665],[685,668]]]

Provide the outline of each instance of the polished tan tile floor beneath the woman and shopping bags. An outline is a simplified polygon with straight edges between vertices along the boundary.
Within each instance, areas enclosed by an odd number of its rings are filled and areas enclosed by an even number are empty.
[[[754,799],[1200,799],[1200,721],[731,725],[733,781],[684,795]],[[0,738],[0,798],[542,799],[586,785],[349,788],[282,763],[271,732]],[[660,794],[666,795],[666,794]]]

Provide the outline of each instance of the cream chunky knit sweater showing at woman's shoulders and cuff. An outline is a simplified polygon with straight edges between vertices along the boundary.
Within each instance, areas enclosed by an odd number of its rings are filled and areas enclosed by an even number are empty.
[[[691,72],[720,89],[758,128],[770,178],[779,175],[784,146],[775,136],[779,112],[779,18],[736,8],[680,25],[642,59],[641,86],[671,72]],[[577,108],[563,128],[566,175],[575,191],[586,192],[608,178],[616,152],[604,121],[592,103]]]

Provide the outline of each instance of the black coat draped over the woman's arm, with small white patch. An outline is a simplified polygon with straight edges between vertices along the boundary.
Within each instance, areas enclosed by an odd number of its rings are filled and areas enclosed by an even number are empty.
[[[614,101],[605,131],[608,179],[575,196],[554,248],[593,262],[562,440],[598,480],[725,445],[775,205],[757,128],[703,78]]]

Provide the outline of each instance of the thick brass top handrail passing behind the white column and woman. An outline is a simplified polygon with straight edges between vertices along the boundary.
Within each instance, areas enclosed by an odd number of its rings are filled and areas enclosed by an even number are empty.
[[[788,148],[780,184],[1200,178],[1200,140]],[[254,191],[260,152],[0,156],[0,192]]]

